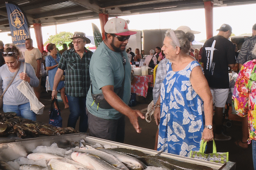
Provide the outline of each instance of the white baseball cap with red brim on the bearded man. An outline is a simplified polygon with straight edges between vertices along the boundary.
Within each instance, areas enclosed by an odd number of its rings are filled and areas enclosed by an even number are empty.
[[[104,26],[104,30],[106,33],[122,36],[128,36],[137,33],[136,31],[129,31],[128,23],[124,19],[118,17],[108,20]]]

